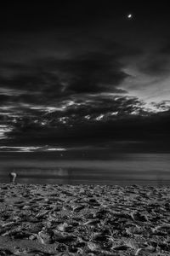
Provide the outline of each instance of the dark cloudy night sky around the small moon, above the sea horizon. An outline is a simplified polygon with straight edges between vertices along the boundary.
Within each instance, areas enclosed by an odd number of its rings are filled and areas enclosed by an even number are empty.
[[[118,3],[1,5],[1,151],[170,152],[169,9]]]

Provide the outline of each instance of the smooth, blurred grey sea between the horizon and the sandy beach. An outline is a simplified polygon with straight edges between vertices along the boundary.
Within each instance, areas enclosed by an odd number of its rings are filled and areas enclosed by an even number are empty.
[[[17,172],[18,183],[170,184],[170,154],[110,154],[108,158],[75,154],[2,153],[0,182]]]

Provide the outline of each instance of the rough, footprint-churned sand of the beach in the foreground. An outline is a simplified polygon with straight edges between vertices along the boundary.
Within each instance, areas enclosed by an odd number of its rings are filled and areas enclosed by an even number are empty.
[[[170,255],[169,187],[0,190],[0,255]]]

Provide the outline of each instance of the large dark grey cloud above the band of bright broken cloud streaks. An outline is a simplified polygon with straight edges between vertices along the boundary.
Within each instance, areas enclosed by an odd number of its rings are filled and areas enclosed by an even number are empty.
[[[8,90],[22,90],[11,101],[40,103],[73,94],[124,93],[119,85],[126,77],[122,64],[112,55],[94,53],[66,60],[34,61],[21,73],[18,67],[13,76],[1,76],[0,83]]]

